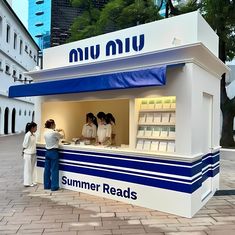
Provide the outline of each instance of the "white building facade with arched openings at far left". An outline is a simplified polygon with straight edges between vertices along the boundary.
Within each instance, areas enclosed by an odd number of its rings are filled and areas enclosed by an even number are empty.
[[[10,99],[8,88],[30,83],[38,47],[6,0],[0,1],[0,135],[24,131],[34,119],[32,98]]]

